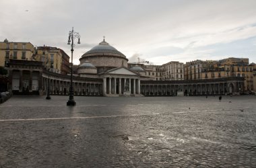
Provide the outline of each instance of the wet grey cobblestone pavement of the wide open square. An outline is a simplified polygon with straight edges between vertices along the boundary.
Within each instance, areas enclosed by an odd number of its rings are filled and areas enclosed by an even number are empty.
[[[256,96],[14,96],[0,167],[256,167]]]

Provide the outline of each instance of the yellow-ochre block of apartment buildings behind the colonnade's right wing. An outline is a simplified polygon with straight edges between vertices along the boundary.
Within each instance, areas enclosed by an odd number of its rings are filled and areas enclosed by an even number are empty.
[[[223,60],[195,60],[186,62],[185,79],[218,79],[225,77],[243,77],[244,91],[255,91],[255,64],[249,64],[248,58],[226,58]]]

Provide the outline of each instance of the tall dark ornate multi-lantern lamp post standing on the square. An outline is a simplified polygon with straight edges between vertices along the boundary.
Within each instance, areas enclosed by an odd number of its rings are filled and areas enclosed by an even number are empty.
[[[73,98],[73,48],[75,47],[75,44],[73,44],[73,41],[75,40],[75,38],[78,38],[77,44],[80,44],[80,35],[77,32],[74,32],[72,27],[72,30],[69,31],[69,40],[67,41],[67,44],[70,44],[71,42],[71,75],[70,75],[69,101],[67,101],[67,106],[75,106],[75,100]]]

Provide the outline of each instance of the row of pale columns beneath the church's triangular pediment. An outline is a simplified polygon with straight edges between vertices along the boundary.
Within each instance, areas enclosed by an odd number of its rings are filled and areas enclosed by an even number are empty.
[[[139,95],[140,79],[134,77],[104,77],[104,95]]]

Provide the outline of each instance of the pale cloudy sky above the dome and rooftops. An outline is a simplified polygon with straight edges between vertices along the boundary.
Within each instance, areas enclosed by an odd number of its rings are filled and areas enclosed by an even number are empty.
[[[154,65],[178,60],[249,58],[256,63],[255,0],[1,0],[0,40],[56,46],[74,60],[103,40]]]

